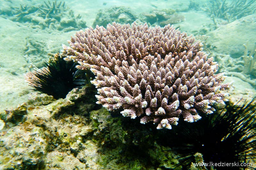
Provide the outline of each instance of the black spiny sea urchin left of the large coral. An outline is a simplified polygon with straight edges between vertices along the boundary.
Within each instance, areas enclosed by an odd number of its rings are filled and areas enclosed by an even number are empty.
[[[78,76],[79,70],[73,62],[66,62],[59,53],[45,67],[27,75],[32,90],[37,90],[55,99],[65,98],[73,88],[81,87],[85,80]]]

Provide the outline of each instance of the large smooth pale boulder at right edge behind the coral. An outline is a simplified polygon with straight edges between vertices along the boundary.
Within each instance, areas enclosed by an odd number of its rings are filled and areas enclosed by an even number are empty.
[[[233,58],[244,54],[243,44],[248,43],[248,51],[255,49],[256,14],[235,20],[207,33],[208,43],[216,47],[218,53],[229,54]]]

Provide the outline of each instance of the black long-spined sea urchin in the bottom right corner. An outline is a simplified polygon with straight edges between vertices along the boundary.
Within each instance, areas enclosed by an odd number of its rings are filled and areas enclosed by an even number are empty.
[[[189,169],[194,154],[203,154],[205,163],[231,163],[216,166],[217,170],[254,169],[250,165],[256,156],[256,98],[242,106],[229,105],[220,114],[212,114],[195,123],[178,126],[168,140],[172,151],[180,153],[183,169]],[[232,163],[234,163],[232,166]],[[236,163],[236,164],[235,164]],[[226,164],[227,165],[227,164]]]

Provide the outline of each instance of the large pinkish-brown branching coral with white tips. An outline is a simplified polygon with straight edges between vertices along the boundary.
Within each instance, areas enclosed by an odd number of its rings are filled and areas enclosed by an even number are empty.
[[[218,64],[207,58],[202,45],[187,33],[167,25],[108,25],[80,30],[63,45],[66,60],[95,74],[98,104],[109,111],[123,108],[123,116],[157,129],[172,129],[180,116],[196,122],[211,114],[215,102],[224,103],[229,84]]]

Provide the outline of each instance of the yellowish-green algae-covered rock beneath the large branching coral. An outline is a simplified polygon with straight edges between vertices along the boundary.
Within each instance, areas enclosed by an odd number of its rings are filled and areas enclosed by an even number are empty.
[[[113,117],[93,100],[90,87],[59,100],[31,93],[27,103],[2,112],[0,168],[164,170],[178,163],[157,144],[156,130]]]

